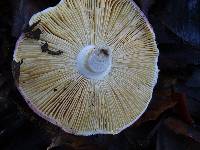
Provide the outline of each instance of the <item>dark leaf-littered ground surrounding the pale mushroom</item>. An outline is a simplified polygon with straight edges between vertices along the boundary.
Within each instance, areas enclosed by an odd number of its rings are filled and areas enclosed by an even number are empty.
[[[1,150],[199,150],[200,0],[136,0],[149,19],[159,79],[144,115],[118,135],[73,136],[35,115],[11,71],[15,42],[30,17],[59,0],[0,0]]]

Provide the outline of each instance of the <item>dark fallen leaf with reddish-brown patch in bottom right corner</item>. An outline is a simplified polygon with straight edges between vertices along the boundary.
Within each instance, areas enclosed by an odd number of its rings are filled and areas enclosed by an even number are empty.
[[[200,132],[175,118],[164,120],[156,134],[156,150],[199,150]]]

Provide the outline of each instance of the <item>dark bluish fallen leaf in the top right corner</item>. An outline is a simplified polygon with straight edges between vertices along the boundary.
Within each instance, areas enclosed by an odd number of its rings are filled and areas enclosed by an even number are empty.
[[[181,39],[200,48],[200,0],[158,0],[153,14]]]

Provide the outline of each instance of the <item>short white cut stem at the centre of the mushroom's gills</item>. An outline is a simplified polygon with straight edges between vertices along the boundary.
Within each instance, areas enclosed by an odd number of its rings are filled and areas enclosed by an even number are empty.
[[[101,80],[110,72],[111,66],[112,52],[109,48],[88,45],[77,57],[77,69],[87,78]]]

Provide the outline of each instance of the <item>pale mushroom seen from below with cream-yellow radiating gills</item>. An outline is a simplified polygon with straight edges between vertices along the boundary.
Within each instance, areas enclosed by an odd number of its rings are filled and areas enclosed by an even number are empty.
[[[35,113],[75,135],[117,134],[143,114],[159,52],[133,1],[61,0],[29,25],[40,35],[23,33],[14,61]]]

